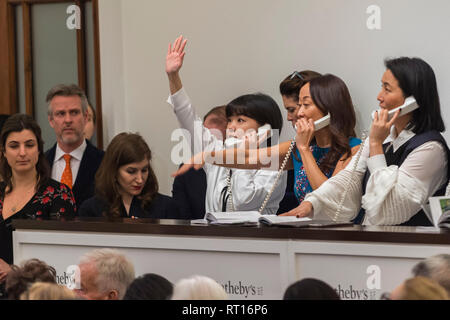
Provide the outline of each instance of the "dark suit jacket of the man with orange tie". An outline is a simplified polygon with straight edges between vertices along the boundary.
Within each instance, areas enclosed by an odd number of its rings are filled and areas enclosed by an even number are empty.
[[[86,144],[86,150],[84,150],[83,157],[81,158],[75,184],[72,186],[72,192],[78,208],[80,208],[84,200],[94,196],[95,173],[100,167],[103,155],[105,154],[103,150],[97,149],[89,140],[86,140]],[[53,162],[55,161],[55,153],[56,143],[51,149],[45,152],[45,157],[50,167],[53,166]]]

